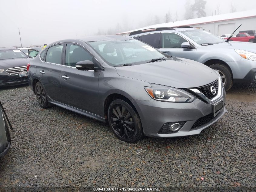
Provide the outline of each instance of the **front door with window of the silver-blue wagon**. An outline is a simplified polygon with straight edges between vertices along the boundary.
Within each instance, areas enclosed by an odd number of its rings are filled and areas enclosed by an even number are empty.
[[[187,39],[183,38],[181,35],[173,32],[163,32],[161,33],[161,48],[160,51],[168,54],[170,56],[182,57],[186,59],[192,59],[196,61],[196,49],[191,48],[181,48],[183,42],[189,42]],[[189,42],[192,47],[194,45]]]

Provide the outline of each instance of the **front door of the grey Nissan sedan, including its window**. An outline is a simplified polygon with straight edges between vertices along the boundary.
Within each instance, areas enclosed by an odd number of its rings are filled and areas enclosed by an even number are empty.
[[[63,103],[98,114],[99,93],[98,76],[100,71],[80,71],[75,64],[90,60],[96,65],[96,59],[83,47],[67,44],[65,49],[65,65],[61,70]]]

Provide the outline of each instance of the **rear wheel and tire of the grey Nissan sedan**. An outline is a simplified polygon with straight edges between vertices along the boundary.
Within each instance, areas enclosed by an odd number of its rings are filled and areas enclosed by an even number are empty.
[[[46,109],[52,106],[52,104],[48,102],[46,91],[39,81],[35,84],[35,95],[39,105],[42,108]]]

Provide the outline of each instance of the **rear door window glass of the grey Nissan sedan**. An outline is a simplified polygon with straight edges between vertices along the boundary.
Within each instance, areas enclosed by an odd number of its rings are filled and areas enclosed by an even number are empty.
[[[55,45],[48,48],[45,62],[55,63],[61,65],[62,45]]]

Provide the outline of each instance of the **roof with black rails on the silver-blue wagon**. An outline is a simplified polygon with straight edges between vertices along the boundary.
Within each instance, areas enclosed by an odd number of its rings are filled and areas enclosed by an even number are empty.
[[[129,36],[134,37],[134,36],[139,36],[141,34],[150,34],[150,33],[155,33],[155,32],[174,32],[174,31],[182,32],[182,31],[188,31],[188,30],[199,30],[199,29],[195,29],[193,27],[151,28],[151,29],[143,29],[143,30],[139,30],[139,31],[133,31],[130,33]]]

